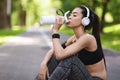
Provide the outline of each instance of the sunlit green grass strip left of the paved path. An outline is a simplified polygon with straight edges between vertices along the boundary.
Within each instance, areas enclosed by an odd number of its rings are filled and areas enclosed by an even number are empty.
[[[11,37],[19,35],[25,30],[25,28],[20,28],[18,26],[13,27],[12,29],[0,30],[0,45],[8,42]]]

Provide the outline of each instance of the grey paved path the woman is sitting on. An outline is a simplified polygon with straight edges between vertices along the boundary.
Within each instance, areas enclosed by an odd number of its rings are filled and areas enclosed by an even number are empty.
[[[51,47],[50,31],[34,27],[0,46],[0,80],[33,80]],[[62,40],[69,36],[62,35]],[[108,80],[120,79],[120,54],[104,49]]]

